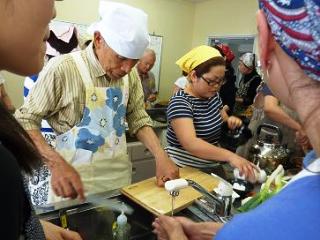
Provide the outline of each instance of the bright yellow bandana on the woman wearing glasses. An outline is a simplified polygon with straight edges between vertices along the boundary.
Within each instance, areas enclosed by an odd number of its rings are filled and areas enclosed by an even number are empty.
[[[202,45],[186,53],[176,61],[176,64],[182,69],[182,71],[190,73],[195,67],[214,57],[222,56],[217,49]]]

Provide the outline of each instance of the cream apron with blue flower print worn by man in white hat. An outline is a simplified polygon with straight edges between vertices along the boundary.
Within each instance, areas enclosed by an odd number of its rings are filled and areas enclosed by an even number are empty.
[[[86,89],[81,121],[56,138],[56,151],[80,174],[85,193],[118,189],[131,182],[125,115],[129,97],[128,75],[121,87],[94,87],[80,52],[72,54]],[[48,184],[48,201],[61,201]]]

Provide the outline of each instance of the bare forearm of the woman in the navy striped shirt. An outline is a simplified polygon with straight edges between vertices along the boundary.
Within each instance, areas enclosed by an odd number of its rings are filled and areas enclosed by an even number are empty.
[[[200,138],[189,139],[183,148],[193,156],[206,160],[228,162],[234,155],[231,151],[214,146]]]

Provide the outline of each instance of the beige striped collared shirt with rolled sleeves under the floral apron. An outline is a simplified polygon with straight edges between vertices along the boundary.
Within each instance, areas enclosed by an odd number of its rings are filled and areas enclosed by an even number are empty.
[[[81,53],[96,87],[117,87],[123,80],[110,80],[90,44]],[[135,68],[129,73],[129,100],[126,119],[131,134],[152,126],[144,109],[143,90]],[[85,106],[85,86],[70,54],[51,59],[41,71],[24,104],[15,117],[26,130],[40,129],[45,119],[61,134],[80,122]]]

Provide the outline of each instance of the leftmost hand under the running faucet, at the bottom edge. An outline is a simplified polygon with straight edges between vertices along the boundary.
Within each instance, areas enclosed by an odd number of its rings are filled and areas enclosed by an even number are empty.
[[[182,225],[173,217],[159,216],[152,223],[158,240],[187,240]]]

